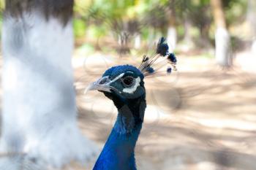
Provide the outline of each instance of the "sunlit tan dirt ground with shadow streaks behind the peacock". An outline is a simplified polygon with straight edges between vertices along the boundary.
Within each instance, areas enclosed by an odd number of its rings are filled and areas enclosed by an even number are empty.
[[[136,60],[99,53],[73,60],[80,128],[99,150],[115,121],[116,108],[101,93],[85,95],[83,90],[109,66]],[[138,169],[255,170],[254,61],[249,53],[241,53],[234,68],[224,71],[213,58],[181,55],[178,72],[146,79],[148,107],[136,147]]]

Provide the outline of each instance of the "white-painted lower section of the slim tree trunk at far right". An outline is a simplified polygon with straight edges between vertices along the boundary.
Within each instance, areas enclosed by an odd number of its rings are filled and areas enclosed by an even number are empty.
[[[215,33],[215,56],[220,66],[232,65],[230,35],[226,28],[217,28]]]

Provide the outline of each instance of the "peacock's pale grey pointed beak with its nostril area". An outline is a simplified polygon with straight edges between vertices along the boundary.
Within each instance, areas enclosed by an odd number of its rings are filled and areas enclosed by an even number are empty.
[[[89,90],[101,90],[101,91],[106,91],[106,92],[111,92],[112,87],[110,86],[110,79],[108,76],[101,77],[99,80],[96,82],[92,82],[88,88],[86,88],[85,92]]]

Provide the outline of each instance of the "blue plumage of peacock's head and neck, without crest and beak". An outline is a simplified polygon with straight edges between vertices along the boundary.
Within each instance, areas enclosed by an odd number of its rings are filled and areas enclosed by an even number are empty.
[[[116,105],[118,116],[94,170],[136,169],[134,150],[146,109],[143,78],[139,69],[129,65],[114,66],[102,75],[112,87],[102,92]]]

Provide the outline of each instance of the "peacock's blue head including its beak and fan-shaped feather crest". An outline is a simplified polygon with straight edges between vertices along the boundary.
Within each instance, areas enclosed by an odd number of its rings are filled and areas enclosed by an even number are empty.
[[[136,98],[145,100],[144,77],[158,75],[158,69],[161,69],[159,66],[162,67],[165,63],[168,64],[165,74],[176,70],[176,57],[173,53],[168,53],[168,45],[165,39],[161,38],[156,54],[151,58],[144,55],[138,68],[131,65],[113,66],[105,71],[99,80],[91,83],[87,90],[99,90],[113,100],[117,107],[129,104],[129,101],[134,104]],[[170,66],[173,66],[173,69]]]

